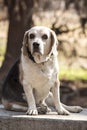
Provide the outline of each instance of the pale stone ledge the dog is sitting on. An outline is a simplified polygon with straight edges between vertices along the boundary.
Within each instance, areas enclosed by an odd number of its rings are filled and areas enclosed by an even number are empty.
[[[22,112],[4,110],[0,106],[0,130],[87,130],[87,109],[77,114],[60,116],[27,116]]]

